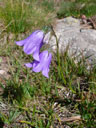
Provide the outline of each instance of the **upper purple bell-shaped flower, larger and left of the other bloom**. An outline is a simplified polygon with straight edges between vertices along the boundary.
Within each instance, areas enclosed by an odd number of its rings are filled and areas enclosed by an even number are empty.
[[[24,46],[23,50],[27,55],[33,54],[33,58],[39,61],[40,48],[43,45],[44,32],[37,30],[24,40],[16,41],[19,46]]]

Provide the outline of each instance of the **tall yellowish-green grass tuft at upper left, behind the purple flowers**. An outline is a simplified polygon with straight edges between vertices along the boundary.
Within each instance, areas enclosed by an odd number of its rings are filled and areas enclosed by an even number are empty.
[[[4,7],[0,7],[0,17],[4,20],[6,30],[24,33],[49,24],[51,20],[47,15],[52,11],[52,4],[42,2],[38,6],[38,1],[4,0]]]

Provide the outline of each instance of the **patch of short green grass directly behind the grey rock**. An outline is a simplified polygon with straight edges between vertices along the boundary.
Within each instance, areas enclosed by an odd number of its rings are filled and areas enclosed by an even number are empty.
[[[82,14],[88,17],[93,16],[96,14],[95,2],[95,0],[75,0],[75,2],[63,1],[57,11],[57,17],[80,17]]]

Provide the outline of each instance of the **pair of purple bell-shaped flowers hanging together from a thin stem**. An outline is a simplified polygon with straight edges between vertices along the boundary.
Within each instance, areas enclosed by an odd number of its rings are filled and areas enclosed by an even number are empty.
[[[52,54],[47,50],[40,52],[40,48],[44,45],[44,32],[37,30],[24,40],[16,41],[16,44],[23,46],[23,51],[27,54],[33,55],[34,61],[26,63],[25,66],[32,68],[34,72],[42,71],[45,77],[49,77],[49,66],[52,59]]]

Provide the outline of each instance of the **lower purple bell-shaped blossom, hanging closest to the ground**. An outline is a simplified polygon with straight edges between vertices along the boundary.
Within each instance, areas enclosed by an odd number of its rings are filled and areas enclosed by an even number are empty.
[[[32,63],[26,63],[25,66],[28,68],[32,68],[34,72],[42,71],[42,74],[49,78],[49,66],[52,59],[52,54],[48,53],[48,51],[43,51],[40,53],[40,61],[34,60]]]

